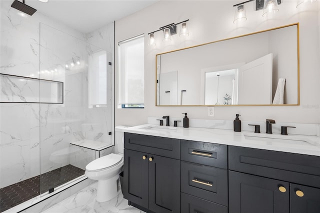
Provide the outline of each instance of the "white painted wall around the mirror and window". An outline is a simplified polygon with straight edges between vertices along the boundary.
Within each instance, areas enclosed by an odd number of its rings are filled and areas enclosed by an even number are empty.
[[[254,1],[245,4],[247,21],[235,25],[233,4],[240,1],[158,1],[139,12],[115,23],[115,42],[145,33],[145,96],[144,109],[115,109],[115,125],[137,125],[147,122],[147,116],[170,115],[180,117],[188,112],[190,118],[209,119],[205,106],[155,106],[155,54],[200,43],[233,37],[281,25],[300,23],[300,105],[299,106],[218,106],[212,119],[233,120],[235,113],[242,120],[278,122],[320,122],[320,61],[319,61],[319,13],[318,3],[297,9],[295,0],[284,0],[273,17],[262,17],[262,11],[254,11]],[[164,12],[165,11],[165,12]],[[165,15],[164,15],[165,14]],[[155,33],[157,45],[147,45],[147,33],[171,22],[188,21],[190,35],[180,39],[171,37],[170,44],[161,43],[161,32]],[[132,27],[134,26],[134,27]],[[115,50],[116,51],[116,50]],[[116,52],[115,52],[116,56]],[[115,66],[116,67],[116,66]],[[115,79],[116,82],[116,79]],[[115,87],[116,91],[116,87]],[[117,100],[115,100],[115,104]]]

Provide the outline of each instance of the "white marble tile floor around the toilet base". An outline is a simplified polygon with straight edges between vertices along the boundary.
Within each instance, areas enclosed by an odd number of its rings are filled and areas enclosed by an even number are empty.
[[[97,202],[95,200],[96,187],[97,182],[42,211],[42,213],[144,213],[144,211],[128,205],[128,201],[123,198],[121,192],[109,201]]]

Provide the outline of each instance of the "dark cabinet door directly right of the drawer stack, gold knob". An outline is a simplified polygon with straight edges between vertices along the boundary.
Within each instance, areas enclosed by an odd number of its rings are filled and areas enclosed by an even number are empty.
[[[229,171],[229,213],[257,212],[289,213],[289,183]]]

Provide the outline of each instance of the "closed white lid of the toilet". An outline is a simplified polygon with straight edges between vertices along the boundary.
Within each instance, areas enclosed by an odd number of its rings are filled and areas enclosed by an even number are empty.
[[[94,171],[94,170],[99,170],[103,168],[107,168],[110,166],[113,166],[120,162],[122,159],[122,156],[119,154],[108,154],[103,157],[99,157],[91,162],[89,162],[86,166],[85,169],[88,171]]]

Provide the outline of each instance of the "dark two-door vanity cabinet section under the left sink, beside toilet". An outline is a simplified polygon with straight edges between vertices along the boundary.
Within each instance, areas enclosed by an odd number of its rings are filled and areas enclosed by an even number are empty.
[[[179,153],[179,139],[124,133],[124,198],[146,212],[180,212]]]

